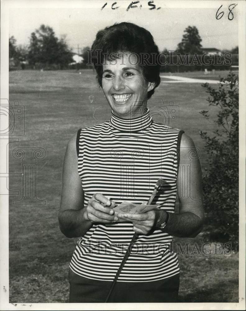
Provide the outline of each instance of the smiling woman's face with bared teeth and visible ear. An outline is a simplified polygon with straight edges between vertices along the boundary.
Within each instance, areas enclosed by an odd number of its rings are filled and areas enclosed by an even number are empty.
[[[120,58],[105,61],[102,73],[102,89],[111,109],[118,117],[126,119],[135,118],[146,111],[135,108],[146,107],[148,91],[155,86],[155,83],[144,79],[136,55],[129,55],[122,53]],[[133,106],[134,111],[140,112],[134,112],[131,116]]]

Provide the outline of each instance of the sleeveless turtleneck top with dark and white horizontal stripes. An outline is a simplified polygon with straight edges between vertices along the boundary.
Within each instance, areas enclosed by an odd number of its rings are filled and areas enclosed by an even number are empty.
[[[167,183],[153,204],[174,213],[177,148],[183,131],[154,122],[147,109],[132,119],[112,112],[110,121],[78,133],[78,172],[85,206],[95,193],[116,203],[146,203],[157,180],[163,178]],[[86,278],[113,281],[133,234],[130,222],[93,224],[77,241],[71,270]],[[157,281],[178,274],[178,258],[170,251],[171,242],[172,236],[158,229],[139,234],[118,281]]]

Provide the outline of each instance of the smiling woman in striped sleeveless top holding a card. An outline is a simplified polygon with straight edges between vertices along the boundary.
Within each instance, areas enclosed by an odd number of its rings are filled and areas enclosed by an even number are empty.
[[[67,237],[80,237],[70,264],[70,302],[105,301],[135,232],[108,302],[178,299],[179,265],[170,244],[172,235],[191,237],[202,228],[201,169],[198,159],[188,158],[191,138],[149,115],[147,100],[160,83],[158,53],[147,30],[126,22],[100,30],[93,43],[112,117],[79,130],[66,150],[59,222]],[[191,163],[189,185],[179,160]],[[148,201],[160,177],[166,181],[154,201],[160,209],[116,216],[115,204]],[[190,187],[196,204],[182,196],[174,213],[179,187]]]

